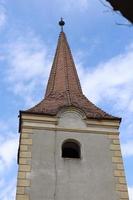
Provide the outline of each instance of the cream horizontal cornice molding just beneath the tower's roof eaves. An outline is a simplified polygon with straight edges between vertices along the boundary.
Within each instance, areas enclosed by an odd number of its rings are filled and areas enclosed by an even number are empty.
[[[32,130],[37,129],[37,130],[54,130],[54,131],[79,132],[79,133],[84,132],[84,133],[95,133],[95,134],[119,134],[118,121],[93,120],[93,119],[85,120],[82,119],[82,117],[81,120],[85,122],[86,126],[81,128],[73,128],[73,127],[70,128],[68,126],[63,127],[61,124],[59,124],[58,118],[23,114],[22,131],[25,133],[26,132],[32,133]],[[23,139],[26,139],[27,135],[24,135],[24,137]]]

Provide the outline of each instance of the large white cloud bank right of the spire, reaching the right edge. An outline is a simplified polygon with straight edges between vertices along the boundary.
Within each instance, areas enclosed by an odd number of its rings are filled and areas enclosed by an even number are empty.
[[[133,48],[88,70],[78,65],[84,93],[94,103],[111,101],[117,110],[133,112]]]

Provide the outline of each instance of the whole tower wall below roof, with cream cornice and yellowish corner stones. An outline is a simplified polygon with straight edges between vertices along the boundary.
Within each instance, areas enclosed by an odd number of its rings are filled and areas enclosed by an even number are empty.
[[[74,110],[22,115],[17,200],[127,200],[118,127]],[[80,143],[81,158],[62,158],[67,139]]]

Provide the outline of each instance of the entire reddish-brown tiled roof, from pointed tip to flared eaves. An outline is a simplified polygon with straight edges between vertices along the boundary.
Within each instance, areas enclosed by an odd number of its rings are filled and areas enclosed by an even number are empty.
[[[96,107],[84,95],[66,35],[61,31],[44,99],[25,113],[56,115],[63,107],[81,109],[87,118],[117,119]]]

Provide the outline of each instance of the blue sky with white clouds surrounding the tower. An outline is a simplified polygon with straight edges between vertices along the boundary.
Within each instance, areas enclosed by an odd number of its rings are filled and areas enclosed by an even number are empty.
[[[14,200],[18,112],[44,96],[60,17],[85,95],[123,118],[120,139],[133,200],[133,27],[108,6],[100,0],[0,0],[0,200]]]

